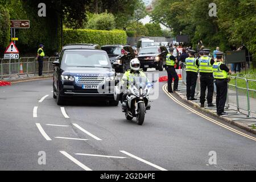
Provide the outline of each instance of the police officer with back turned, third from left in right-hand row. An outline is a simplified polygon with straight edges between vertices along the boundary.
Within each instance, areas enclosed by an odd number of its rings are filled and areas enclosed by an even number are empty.
[[[201,107],[204,107],[205,92],[207,89],[208,107],[214,107],[215,105],[212,104],[214,90],[212,65],[214,64],[214,60],[211,57],[209,57],[210,49],[203,49],[203,52],[204,56],[200,57],[199,60],[196,61],[196,65],[199,67],[200,73],[200,103]]]

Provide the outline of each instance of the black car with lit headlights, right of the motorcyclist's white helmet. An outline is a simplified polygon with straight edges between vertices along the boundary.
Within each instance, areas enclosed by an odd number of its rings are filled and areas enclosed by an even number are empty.
[[[148,46],[139,50],[138,59],[141,62],[143,71],[147,68],[155,68],[163,71],[166,65],[166,55],[168,50],[165,46]]]

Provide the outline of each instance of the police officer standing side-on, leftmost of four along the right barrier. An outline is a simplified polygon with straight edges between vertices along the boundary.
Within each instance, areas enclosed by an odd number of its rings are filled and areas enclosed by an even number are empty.
[[[170,48],[170,53],[166,55],[166,71],[168,74],[168,92],[172,93],[172,78],[174,78],[174,91],[180,91],[178,90],[179,85],[179,76],[177,75],[175,71],[175,64],[177,63],[177,59],[172,55],[174,53],[174,48]]]

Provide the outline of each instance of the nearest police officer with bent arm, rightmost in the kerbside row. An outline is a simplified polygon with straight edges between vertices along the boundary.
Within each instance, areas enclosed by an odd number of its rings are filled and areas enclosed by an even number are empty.
[[[213,77],[217,88],[216,105],[218,115],[227,114],[224,112],[224,107],[228,93],[228,73],[231,74],[230,69],[223,63],[223,54],[223,52],[218,51],[216,53],[217,61],[213,64]]]

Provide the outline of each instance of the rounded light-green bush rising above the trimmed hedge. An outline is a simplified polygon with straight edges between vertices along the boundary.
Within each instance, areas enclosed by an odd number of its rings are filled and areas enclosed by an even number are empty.
[[[115,28],[115,17],[111,13],[93,14],[87,28],[93,30],[113,30]]]

